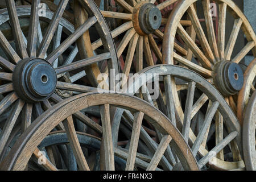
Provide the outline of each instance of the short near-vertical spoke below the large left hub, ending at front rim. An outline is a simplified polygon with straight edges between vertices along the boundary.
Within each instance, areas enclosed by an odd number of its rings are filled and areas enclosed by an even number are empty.
[[[24,105],[24,107],[22,109],[22,133],[31,124],[32,109],[33,109],[32,104],[26,104],[26,105]]]

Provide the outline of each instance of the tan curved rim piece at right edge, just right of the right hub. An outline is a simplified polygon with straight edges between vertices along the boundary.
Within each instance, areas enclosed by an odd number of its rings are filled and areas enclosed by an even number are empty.
[[[255,90],[256,59],[251,61],[243,76],[245,79],[243,82],[243,88],[238,93],[237,98],[237,117],[241,123],[243,122],[246,105]]]

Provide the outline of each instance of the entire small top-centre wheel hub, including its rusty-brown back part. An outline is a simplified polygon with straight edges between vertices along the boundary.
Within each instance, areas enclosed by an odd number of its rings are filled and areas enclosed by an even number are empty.
[[[162,21],[161,11],[152,3],[142,3],[134,10],[134,28],[141,34],[152,34],[157,30]]]

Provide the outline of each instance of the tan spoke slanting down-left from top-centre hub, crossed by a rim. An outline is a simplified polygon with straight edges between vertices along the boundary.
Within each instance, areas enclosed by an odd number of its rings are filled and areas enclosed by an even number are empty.
[[[129,30],[131,27],[133,27],[133,22],[129,21],[126,23],[123,23],[121,26],[115,28],[113,31],[111,31],[111,35],[113,38],[115,38],[116,36],[122,34],[123,32],[125,32],[126,30]],[[99,47],[102,46],[102,40],[98,39],[95,42],[92,43],[92,49],[95,50]]]

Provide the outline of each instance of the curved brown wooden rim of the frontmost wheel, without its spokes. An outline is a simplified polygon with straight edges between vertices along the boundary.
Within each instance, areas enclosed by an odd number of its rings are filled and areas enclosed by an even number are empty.
[[[126,102],[123,102],[125,100]],[[144,107],[142,108],[141,105],[130,106],[130,103],[134,103],[134,101],[140,102],[142,105],[144,105]],[[121,104],[122,102],[123,104]],[[13,150],[1,164],[1,168],[5,170],[24,169],[36,146],[40,144],[40,142],[59,122],[86,107],[106,104],[121,106],[125,107],[126,109],[131,108],[131,110],[143,111],[145,117],[151,118],[150,120],[152,122],[154,121],[154,124],[157,127],[162,128],[163,133],[171,134],[173,140],[176,142],[177,146],[179,146],[177,150],[179,150],[180,153],[177,153],[177,155],[184,154],[184,156],[179,156],[180,160],[185,165],[184,168],[194,170],[198,169],[196,160],[193,158],[193,155],[188,155],[191,154],[191,151],[185,143],[183,137],[181,137],[179,131],[171,124],[170,121],[168,121],[168,119],[163,114],[160,114],[160,112],[154,107],[150,106],[145,101],[139,100],[138,98],[127,96],[125,94],[111,93],[80,94],[79,96],[71,97],[53,106],[52,110],[46,111],[46,113],[37,118],[36,121],[33,122],[22,134],[22,136],[15,143]],[[155,111],[157,111],[160,115],[156,115]],[[53,119],[52,117],[57,118]],[[45,131],[43,135],[42,129]]]

